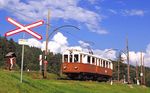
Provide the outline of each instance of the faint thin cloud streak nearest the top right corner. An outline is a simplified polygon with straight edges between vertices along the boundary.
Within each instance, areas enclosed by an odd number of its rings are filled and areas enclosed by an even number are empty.
[[[124,16],[144,16],[144,10],[132,9],[132,10],[123,10],[122,14]]]

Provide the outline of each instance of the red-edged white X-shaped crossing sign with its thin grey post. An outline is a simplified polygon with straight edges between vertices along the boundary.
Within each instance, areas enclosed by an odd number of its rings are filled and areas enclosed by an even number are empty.
[[[39,40],[42,39],[42,36],[37,34],[36,32],[33,32],[31,30],[31,28],[34,28],[34,27],[37,27],[37,26],[40,26],[40,25],[44,24],[43,20],[37,21],[35,23],[29,24],[29,25],[26,25],[26,26],[20,24],[19,22],[13,20],[10,17],[7,18],[7,21],[10,22],[11,24],[17,26],[17,28],[15,30],[11,30],[11,31],[6,32],[5,33],[6,37],[17,34],[17,33],[20,33],[20,32],[27,32],[28,34],[31,34],[33,37],[35,37]],[[24,38],[24,36],[23,36],[23,38]],[[22,40],[25,40],[25,39],[22,39]],[[24,46],[25,46],[25,43],[26,42],[21,42],[21,44],[22,44],[22,60],[21,60],[21,76],[20,76],[21,83],[22,83],[22,76],[23,76],[23,62],[24,62]]]

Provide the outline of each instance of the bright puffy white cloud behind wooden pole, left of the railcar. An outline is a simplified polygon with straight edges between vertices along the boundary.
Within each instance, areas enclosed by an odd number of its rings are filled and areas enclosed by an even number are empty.
[[[28,39],[28,45],[30,47],[41,48],[41,50],[45,50],[46,42],[40,42],[35,38]],[[68,48],[67,37],[65,37],[62,33],[58,32],[54,35],[51,41],[48,42],[48,50],[54,53],[62,53],[65,49]]]

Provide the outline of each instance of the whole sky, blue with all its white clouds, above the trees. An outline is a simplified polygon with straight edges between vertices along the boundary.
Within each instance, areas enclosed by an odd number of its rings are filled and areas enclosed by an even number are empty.
[[[6,18],[11,17],[27,25],[44,20],[50,10],[50,32],[63,25],[80,28],[62,28],[49,42],[49,49],[60,52],[66,48],[81,48],[91,45],[97,55],[115,58],[116,52],[105,53],[114,48],[123,50],[126,37],[129,39],[130,61],[135,64],[143,51],[145,64],[150,66],[150,1],[149,0],[0,0],[0,35],[16,27]],[[45,49],[46,24],[36,27],[35,32],[43,36],[42,40],[25,34],[30,46]],[[69,32],[70,34],[68,34]],[[16,42],[23,33],[8,37]]]

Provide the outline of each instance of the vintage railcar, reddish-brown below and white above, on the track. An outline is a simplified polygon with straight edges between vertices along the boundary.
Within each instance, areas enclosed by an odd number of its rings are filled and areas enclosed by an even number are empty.
[[[107,81],[112,77],[112,61],[79,50],[62,54],[62,72],[70,79]]]

